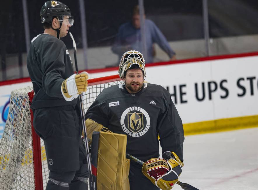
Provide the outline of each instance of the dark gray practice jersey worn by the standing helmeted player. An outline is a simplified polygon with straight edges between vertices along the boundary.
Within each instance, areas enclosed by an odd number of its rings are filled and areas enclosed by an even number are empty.
[[[49,34],[33,38],[27,68],[36,94],[35,108],[76,105],[77,99],[65,101],[61,92],[62,82],[74,74],[69,52],[61,40]]]

